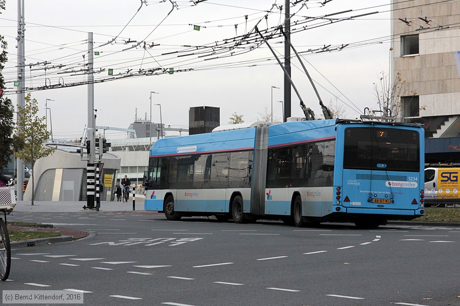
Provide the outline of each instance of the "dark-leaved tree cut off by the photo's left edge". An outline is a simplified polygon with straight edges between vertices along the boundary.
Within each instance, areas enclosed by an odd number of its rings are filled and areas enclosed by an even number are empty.
[[[0,0],[0,14],[5,10],[5,0]],[[0,47],[2,53],[0,53],[0,71],[5,67],[4,63],[8,60],[7,58],[7,42],[5,38],[0,35]],[[5,80],[3,74],[0,73],[0,89],[5,88]],[[13,105],[11,99],[5,95],[0,96],[0,172],[5,168],[11,160],[13,154],[13,134],[14,122],[13,122]]]

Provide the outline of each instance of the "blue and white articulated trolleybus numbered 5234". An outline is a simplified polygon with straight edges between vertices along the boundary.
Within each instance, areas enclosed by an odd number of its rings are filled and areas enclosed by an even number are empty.
[[[424,214],[423,143],[418,124],[339,119],[159,139],[144,206],[168,220],[410,220]]]

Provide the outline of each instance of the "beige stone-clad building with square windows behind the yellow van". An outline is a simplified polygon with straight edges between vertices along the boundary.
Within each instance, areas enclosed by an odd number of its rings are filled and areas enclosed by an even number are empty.
[[[460,0],[392,4],[402,118],[424,124],[427,162],[460,162]]]

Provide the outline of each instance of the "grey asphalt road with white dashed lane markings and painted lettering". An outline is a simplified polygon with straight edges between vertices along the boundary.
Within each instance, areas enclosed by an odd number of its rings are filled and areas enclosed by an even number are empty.
[[[92,234],[14,249],[2,290],[77,290],[85,305],[460,305],[460,227],[296,228],[94,211],[8,220]]]

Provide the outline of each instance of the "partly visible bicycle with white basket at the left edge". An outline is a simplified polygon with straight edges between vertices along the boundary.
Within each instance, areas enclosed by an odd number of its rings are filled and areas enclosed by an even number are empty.
[[[8,187],[0,187],[0,211],[4,214],[4,218],[0,215],[0,279],[2,281],[8,279],[11,267],[11,246],[6,216],[11,214],[16,206],[16,196],[12,184],[13,181],[10,180],[7,184]]]

